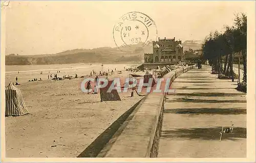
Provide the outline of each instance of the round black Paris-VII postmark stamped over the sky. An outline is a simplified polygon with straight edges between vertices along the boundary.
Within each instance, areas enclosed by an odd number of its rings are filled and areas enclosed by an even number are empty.
[[[113,28],[113,37],[117,47],[133,45],[142,47],[157,40],[155,21],[141,12],[129,12],[119,18]]]

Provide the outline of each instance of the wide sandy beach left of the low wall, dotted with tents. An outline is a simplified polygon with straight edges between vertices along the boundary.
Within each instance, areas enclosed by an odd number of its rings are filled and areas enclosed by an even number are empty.
[[[130,73],[117,71],[109,78],[126,78]],[[100,94],[81,91],[80,76],[60,81],[24,80],[16,86],[31,114],[5,118],[6,157],[76,157],[143,98],[137,94],[131,98],[128,90],[119,93],[122,101],[100,102]]]

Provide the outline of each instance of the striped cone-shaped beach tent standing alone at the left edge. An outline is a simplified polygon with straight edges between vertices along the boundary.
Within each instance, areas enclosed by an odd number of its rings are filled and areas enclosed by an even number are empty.
[[[5,88],[5,116],[8,115],[25,115],[29,111],[24,103],[22,92],[10,83]]]

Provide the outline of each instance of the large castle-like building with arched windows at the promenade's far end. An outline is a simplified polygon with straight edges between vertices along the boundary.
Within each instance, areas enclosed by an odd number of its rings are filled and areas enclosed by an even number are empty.
[[[183,46],[181,41],[173,39],[160,39],[153,41],[153,53],[144,54],[145,63],[177,63],[184,61]]]

